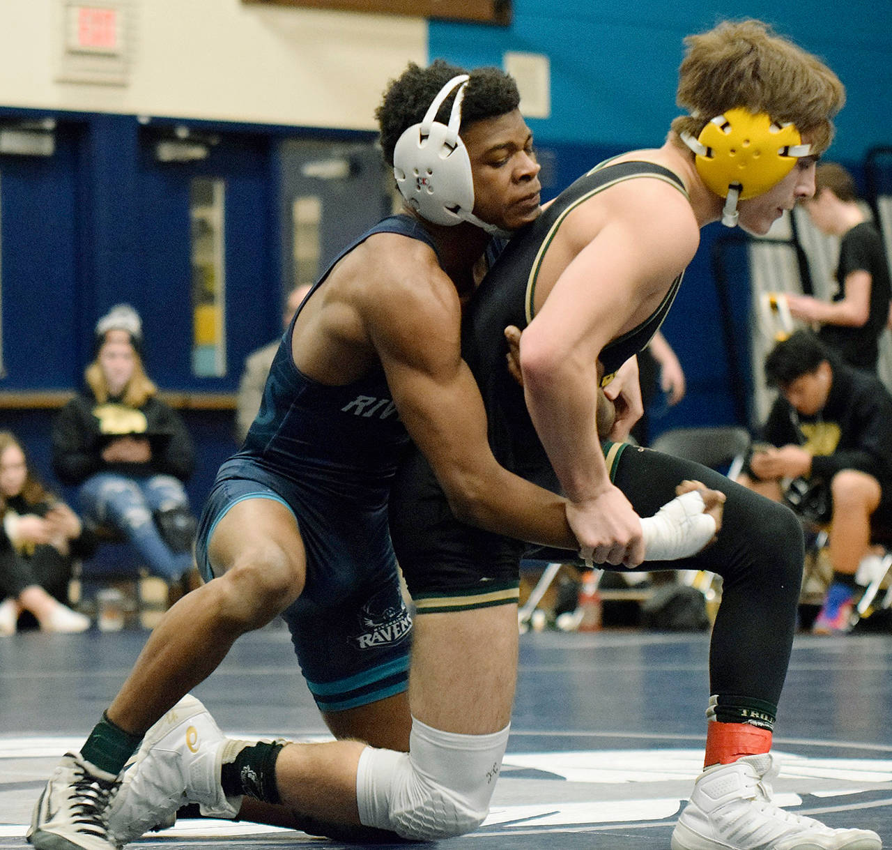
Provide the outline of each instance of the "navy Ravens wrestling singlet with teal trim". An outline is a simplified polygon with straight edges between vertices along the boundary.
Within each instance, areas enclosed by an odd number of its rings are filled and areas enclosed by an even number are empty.
[[[416,238],[435,251],[416,220],[392,216],[346,248],[303,303],[325,285],[336,262],[376,233]],[[338,387],[297,369],[291,354],[296,318],[270,367],[244,446],[219,469],[199,524],[196,556],[204,578],[211,579],[208,540],[236,502],[270,498],[293,512],[307,578],[283,616],[319,707],[339,711],[406,687],[411,619],[400,593],[387,498],[409,437],[380,365]]]

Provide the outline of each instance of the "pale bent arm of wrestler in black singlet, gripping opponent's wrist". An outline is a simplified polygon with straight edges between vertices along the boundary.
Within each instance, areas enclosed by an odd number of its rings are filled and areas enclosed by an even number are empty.
[[[524,395],[577,535],[598,541],[596,562],[635,566],[640,520],[610,482],[598,437],[599,354],[660,304],[696,251],[697,222],[677,189],[636,179],[582,204],[564,228],[521,338]]]

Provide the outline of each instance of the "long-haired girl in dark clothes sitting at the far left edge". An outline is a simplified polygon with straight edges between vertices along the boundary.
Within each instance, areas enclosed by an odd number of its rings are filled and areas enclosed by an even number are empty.
[[[68,601],[72,562],[92,538],[78,515],[50,493],[9,431],[0,431],[0,635],[29,611],[44,631],[84,631],[90,621]]]

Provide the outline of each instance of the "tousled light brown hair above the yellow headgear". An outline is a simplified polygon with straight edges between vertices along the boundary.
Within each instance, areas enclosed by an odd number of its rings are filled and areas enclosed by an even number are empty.
[[[791,121],[811,137],[813,154],[830,146],[846,88],[817,56],[754,20],[723,21],[684,42],[676,103],[690,115],[672,122],[676,134],[696,138],[716,115],[742,107]]]

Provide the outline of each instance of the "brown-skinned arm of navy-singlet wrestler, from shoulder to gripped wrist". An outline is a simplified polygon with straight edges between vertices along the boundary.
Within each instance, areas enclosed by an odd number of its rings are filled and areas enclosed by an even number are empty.
[[[566,500],[508,472],[492,456],[483,400],[461,359],[455,285],[429,248],[409,247],[415,262],[402,254],[384,283],[387,296],[375,287],[376,296],[361,307],[409,436],[458,519],[508,537],[577,548]]]

